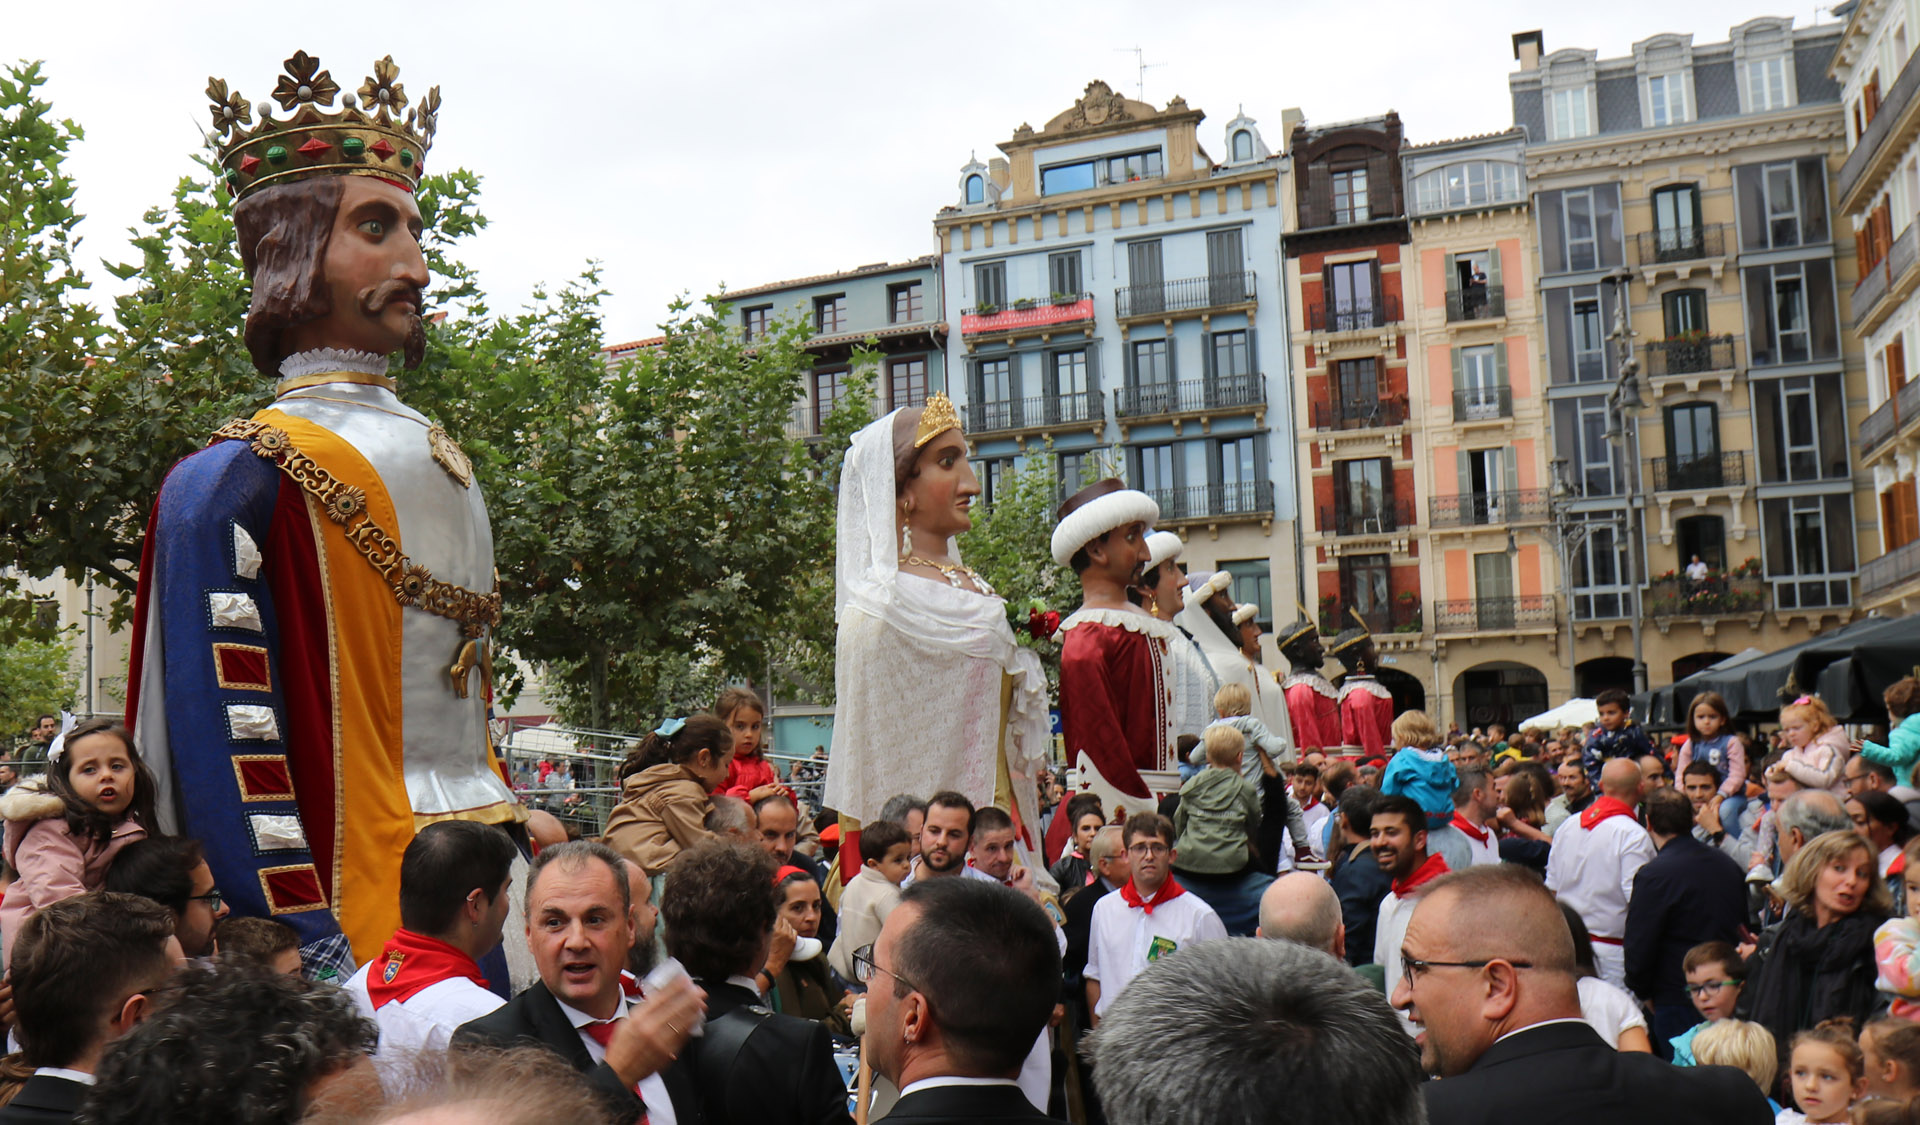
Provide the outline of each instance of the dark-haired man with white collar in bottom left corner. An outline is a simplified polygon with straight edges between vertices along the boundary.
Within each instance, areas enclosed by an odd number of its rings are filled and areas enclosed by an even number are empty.
[[[13,1014],[33,1077],[0,1125],[73,1121],[108,1042],[140,1023],[182,958],[173,912],[100,891],[54,902],[13,943]]]

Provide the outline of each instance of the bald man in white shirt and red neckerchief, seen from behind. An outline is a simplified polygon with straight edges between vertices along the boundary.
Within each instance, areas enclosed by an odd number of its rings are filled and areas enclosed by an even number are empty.
[[[1599,797],[1561,824],[1548,852],[1548,891],[1586,922],[1594,968],[1620,989],[1626,987],[1626,902],[1634,897],[1634,875],[1655,854],[1653,837],[1634,820],[1640,789],[1640,764],[1609,758],[1599,770]]]

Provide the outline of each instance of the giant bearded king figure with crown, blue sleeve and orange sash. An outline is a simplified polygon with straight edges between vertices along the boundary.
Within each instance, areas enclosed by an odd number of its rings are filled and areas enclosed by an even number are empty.
[[[417,827],[526,816],[488,737],[486,503],[388,371],[424,353],[413,190],[440,113],[438,86],[409,106],[397,77],[380,60],[355,98],[300,52],[257,123],[207,86],[246,346],[278,382],[167,474],[129,676],[161,827],[205,841],[234,912],[292,925],[321,975],[399,925]]]

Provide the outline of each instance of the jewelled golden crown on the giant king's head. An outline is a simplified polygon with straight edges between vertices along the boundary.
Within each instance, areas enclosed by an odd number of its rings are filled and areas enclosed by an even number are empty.
[[[340,109],[324,111],[336,96]],[[234,200],[269,184],[340,175],[380,177],[411,192],[426,171],[426,150],[440,127],[440,86],[409,109],[394,56],[372,65],[355,100],[340,92],[321,60],[294,52],[273,88],[273,100],[292,117],[275,121],[273,104],[261,102],[253,129],[248,129],[253,109],[238,90],[227,92],[225,79],[207,79],[207,98],[213,102],[209,142],[219,146],[227,194]]]

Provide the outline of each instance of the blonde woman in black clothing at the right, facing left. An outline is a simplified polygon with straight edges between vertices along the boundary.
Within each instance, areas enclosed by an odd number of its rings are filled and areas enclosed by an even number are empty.
[[[1749,958],[1745,1017],[1780,1044],[1786,1073],[1795,1031],[1874,1010],[1874,927],[1893,912],[1874,847],[1853,831],[1816,835],[1780,877],[1788,916]],[[1753,968],[1757,962],[1757,968]]]

